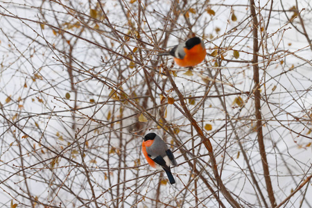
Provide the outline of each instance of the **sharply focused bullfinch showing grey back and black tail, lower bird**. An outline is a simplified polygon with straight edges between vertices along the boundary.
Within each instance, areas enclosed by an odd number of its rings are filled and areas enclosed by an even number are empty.
[[[173,153],[168,148],[164,140],[155,133],[148,133],[143,138],[142,152],[150,166],[157,169],[164,169],[171,184],[175,179],[170,171],[170,165],[177,166]]]

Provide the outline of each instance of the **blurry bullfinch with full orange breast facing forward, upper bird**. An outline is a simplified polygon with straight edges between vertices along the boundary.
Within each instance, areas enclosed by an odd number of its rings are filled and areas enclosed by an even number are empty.
[[[178,44],[171,51],[158,55],[172,55],[175,63],[180,67],[194,67],[205,60],[206,49],[199,37],[192,37],[182,44]]]

